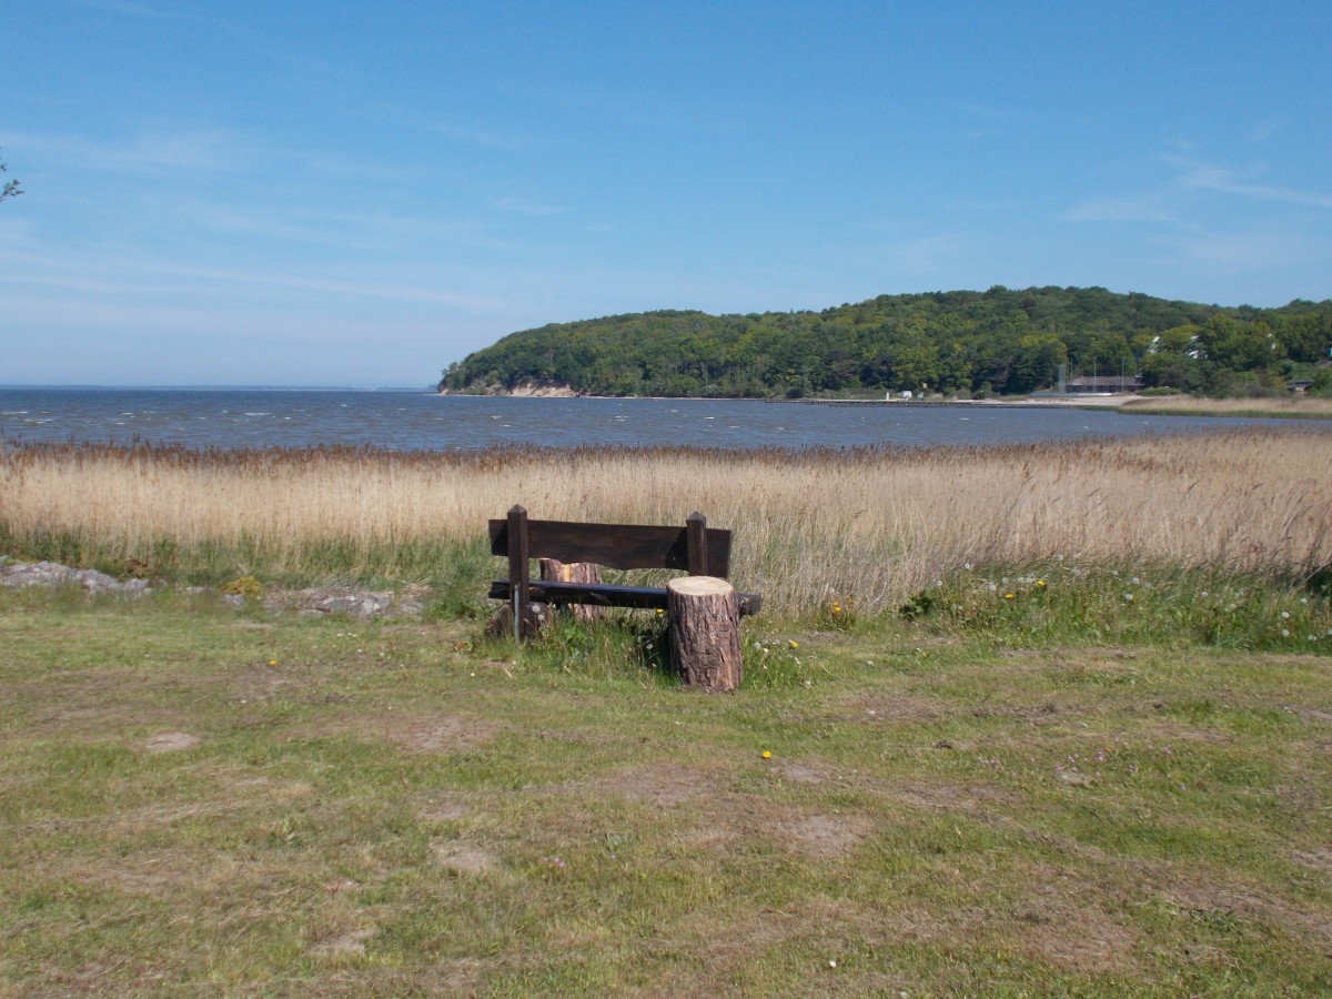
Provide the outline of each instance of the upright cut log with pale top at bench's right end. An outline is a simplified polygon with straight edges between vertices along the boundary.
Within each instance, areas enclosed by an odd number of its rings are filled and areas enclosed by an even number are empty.
[[[741,610],[735,587],[713,575],[666,583],[671,665],[686,687],[730,693],[739,687]]]

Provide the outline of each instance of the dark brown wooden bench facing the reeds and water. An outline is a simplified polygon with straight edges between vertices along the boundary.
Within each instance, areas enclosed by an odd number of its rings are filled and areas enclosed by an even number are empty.
[[[509,578],[490,585],[490,597],[505,601],[515,638],[530,637],[531,605],[646,607],[666,610],[667,593],[655,586],[533,579],[530,559],[593,562],[609,569],[677,569],[690,575],[725,579],[731,567],[731,531],[709,527],[703,514],[690,514],[683,527],[634,523],[533,521],[522,506],[490,521],[490,554],[509,558]],[[739,613],[757,614],[763,598],[737,593]]]

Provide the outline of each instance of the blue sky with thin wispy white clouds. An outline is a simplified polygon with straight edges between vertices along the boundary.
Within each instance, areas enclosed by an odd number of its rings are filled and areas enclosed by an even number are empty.
[[[41,0],[0,384],[416,386],[517,329],[1332,297],[1325,3]]]

